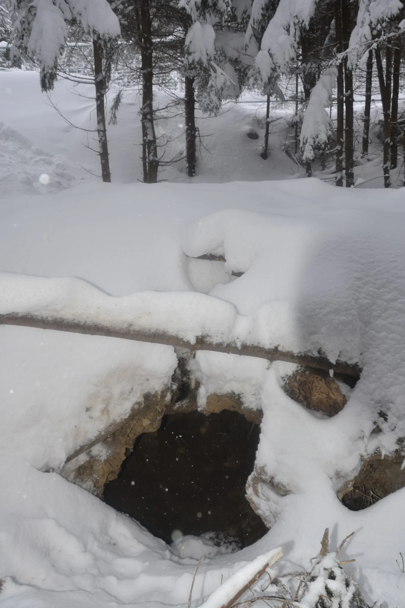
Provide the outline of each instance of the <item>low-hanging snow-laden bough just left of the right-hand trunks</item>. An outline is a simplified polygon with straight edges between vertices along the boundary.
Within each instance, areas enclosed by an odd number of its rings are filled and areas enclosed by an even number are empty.
[[[313,161],[315,150],[325,150],[332,136],[332,122],[325,107],[332,97],[335,75],[336,68],[328,69],[311,91],[301,128],[300,145],[304,161]]]

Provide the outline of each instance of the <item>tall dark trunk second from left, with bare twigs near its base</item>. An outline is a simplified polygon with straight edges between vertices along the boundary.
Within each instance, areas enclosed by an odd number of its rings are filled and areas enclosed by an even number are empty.
[[[143,162],[144,171],[146,168],[146,176],[144,173],[143,181],[148,184],[155,184],[157,182],[159,160],[153,115],[153,42],[149,0],[141,0],[140,2],[140,26],[142,72],[142,107],[140,114],[143,150],[145,150],[146,156],[146,162]]]

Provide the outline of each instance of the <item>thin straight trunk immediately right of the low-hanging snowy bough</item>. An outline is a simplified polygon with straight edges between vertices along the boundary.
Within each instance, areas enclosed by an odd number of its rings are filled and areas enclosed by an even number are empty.
[[[342,0],[336,0],[335,4],[335,30],[336,30],[336,52],[343,51],[343,19]],[[343,63],[338,65],[337,86],[337,116],[336,116],[336,185],[343,185],[343,131],[344,131],[344,77]]]

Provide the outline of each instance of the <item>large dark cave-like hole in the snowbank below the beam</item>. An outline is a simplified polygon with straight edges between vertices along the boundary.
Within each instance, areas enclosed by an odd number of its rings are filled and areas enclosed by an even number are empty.
[[[245,498],[259,434],[238,412],[166,415],[157,432],[137,438],[104,502],[168,543],[180,530],[251,545],[267,533]]]

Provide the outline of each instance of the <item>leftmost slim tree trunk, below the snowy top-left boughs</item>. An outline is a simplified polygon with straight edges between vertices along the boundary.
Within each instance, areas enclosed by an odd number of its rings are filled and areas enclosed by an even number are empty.
[[[111,182],[106,129],[106,111],[104,106],[104,97],[106,91],[103,74],[103,46],[101,44],[100,38],[94,38],[93,40],[93,53],[98,154],[100,154],[101,177],[103,178],[103,182]]]

